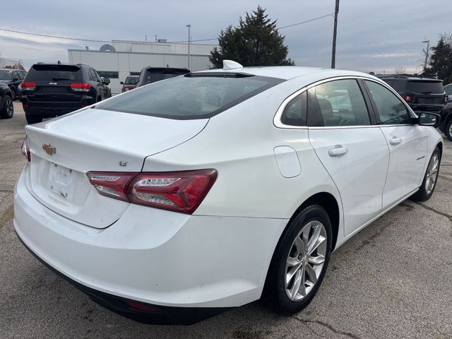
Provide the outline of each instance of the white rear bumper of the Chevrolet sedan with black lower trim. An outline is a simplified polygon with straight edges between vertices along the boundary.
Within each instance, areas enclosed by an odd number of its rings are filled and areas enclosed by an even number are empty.
[[[172,322],[191,323],[259,299],[287,224],[130,205],[117,222],[99,230],[43,206],[24,177],[25,170],[15,189],[14,227],[25,246],[119,314],[137,315],[125,300],[157,309],[157,314],[138,311],[136,320],[145,316],[146,322],[164,323],[163,314]],[[186,313],[192,318],[184,319]]]

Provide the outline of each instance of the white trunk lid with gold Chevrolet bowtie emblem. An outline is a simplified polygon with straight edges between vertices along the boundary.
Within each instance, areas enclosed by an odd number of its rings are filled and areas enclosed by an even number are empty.
[[[86,172],[141,172],[145,157],[193,138],[207,121],[83,109],[26,126],[31,152],[28,189],[54,212],[105,228],[129,203],[98,194]]]

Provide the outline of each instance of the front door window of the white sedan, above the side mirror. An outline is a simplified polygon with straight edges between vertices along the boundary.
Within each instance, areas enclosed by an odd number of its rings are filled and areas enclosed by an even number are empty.
[[[370,90],[371,97],[374,99],[381,124],[411,124],[408,108],[391,90],[373,81],[366,81],[366,84]]]

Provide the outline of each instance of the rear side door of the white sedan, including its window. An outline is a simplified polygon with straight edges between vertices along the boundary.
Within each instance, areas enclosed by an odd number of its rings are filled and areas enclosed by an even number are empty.
[[[338,187],[345,236],[381,213],[389,151],[355,78],[308,89],[309,141]]]

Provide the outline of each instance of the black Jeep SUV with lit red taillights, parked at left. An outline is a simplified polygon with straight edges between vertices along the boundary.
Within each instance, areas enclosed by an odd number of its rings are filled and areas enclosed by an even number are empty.
[[[28,124],[58,117],[112,94],[108,78],[83,64],[34,64],[21,84],[22,105]]]

